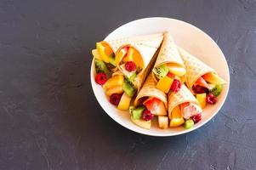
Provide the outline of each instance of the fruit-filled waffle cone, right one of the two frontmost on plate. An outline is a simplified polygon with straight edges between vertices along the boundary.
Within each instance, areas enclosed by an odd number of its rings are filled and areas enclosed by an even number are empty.
[[[168,94],[168,118],[170,127],[184,126],[186,129],[201,121],[202,108],[185,85],[178,93]]]

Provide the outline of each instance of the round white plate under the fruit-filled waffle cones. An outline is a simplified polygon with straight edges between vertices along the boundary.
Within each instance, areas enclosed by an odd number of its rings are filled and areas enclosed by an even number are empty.
[[[134,20],[123,26],[120,26],[115,31],[112,31],[105,39],[114,39],[118,37],[129,37],[151,34],[156,32],[169,31],[174,37],[174,41],[182,48],[185,48],[191,54],[202,59],[206,64],[210,65],[217,71],[220,77],[223,77],[228,84],[225,85],[223,92],[218,97],[216,105],[208,105],[202,114],[202,121],[198,122],[191,129],[186,130],[184,127],[169,127],[167,130],[162,130],[157,127],[157,122],[153,122],[151,130],[146,130],[134,125],[130,121],[128,111],[119,111],[108,101],[103,89],[100,85],[94,82],[94,61],[91,65],[91,83],[94,94],[100,106],[104,111],[111,116],[113,120],[128,129],[151,136],[174,136],[182,133],[188,133],[201,127],[215,116],[221,106],[224,104],[229,91],[230,73],[225,56],[218,45],[205,32],[181,20],[169,18],[145,18]],[[95,113],[97,114],[97,113]]]

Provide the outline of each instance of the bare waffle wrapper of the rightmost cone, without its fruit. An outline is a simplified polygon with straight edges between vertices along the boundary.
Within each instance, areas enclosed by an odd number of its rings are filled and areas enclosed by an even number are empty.
[[[208,72],[215,72],[213,68],[204,64],[200,59],[197,59],[192,54],[189,54],[183,48],[178,48],[179,54],[184,61],[186,75],[185,75],[185,83],[188,88],[192,89],[194,83],[199,77],[207,74]]]

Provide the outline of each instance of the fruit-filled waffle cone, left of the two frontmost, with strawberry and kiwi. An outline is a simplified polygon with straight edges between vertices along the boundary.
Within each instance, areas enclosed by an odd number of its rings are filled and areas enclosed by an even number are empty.
[[[151,128],[151,120],[158,119],[160,128],[168,128],[167,95],[156,88],[152,74],[150,74],[139,94],[130,106],[129,112],[134,124],[145,129]]]

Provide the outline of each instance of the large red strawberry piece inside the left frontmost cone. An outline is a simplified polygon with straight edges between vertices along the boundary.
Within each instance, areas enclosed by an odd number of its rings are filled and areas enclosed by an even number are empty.
[[[157,115],[157,116],[158,115],[161,115],[161,116],[167,115],[165,105],[163,104],[163,102],[160,99],[149,98],[149,99],[145,100],[143,105],[145,105],[147,110],[151,111],[151,113],[154,115]]]

